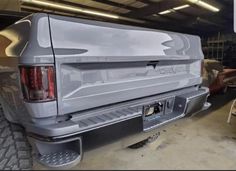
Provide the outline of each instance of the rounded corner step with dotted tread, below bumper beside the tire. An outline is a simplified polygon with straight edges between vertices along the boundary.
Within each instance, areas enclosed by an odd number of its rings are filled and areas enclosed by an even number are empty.
[[[53,169],[67,169],[80,163],[83,155],[82,138],[75,137],[59,141],[41,141],[29,138],[35,159]]]

